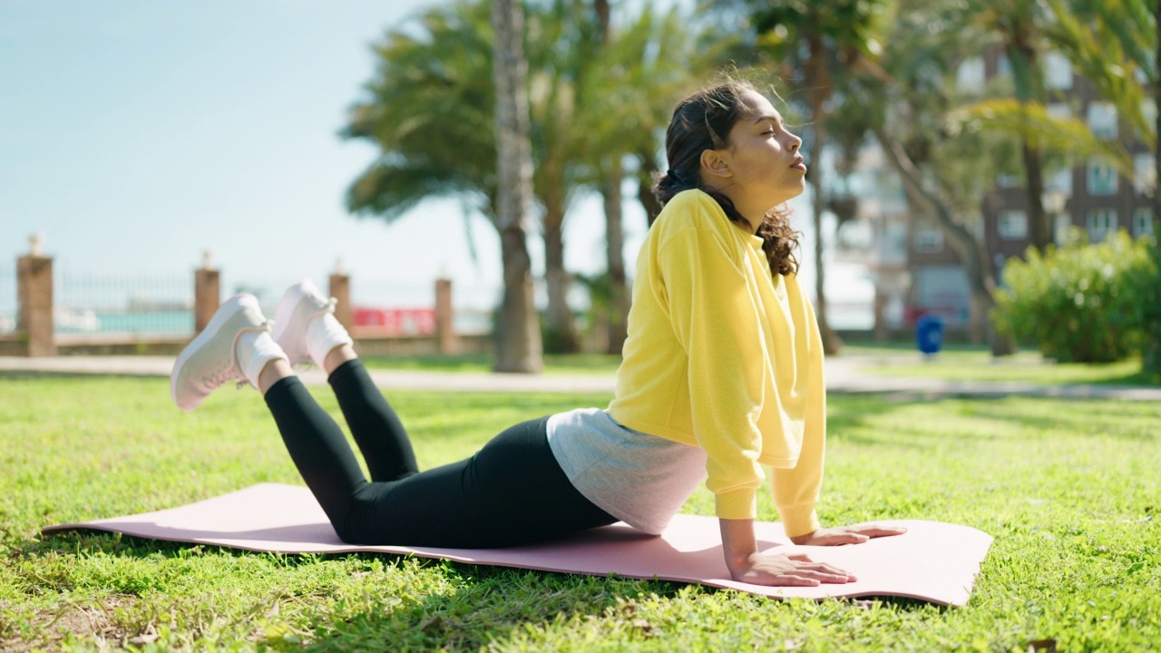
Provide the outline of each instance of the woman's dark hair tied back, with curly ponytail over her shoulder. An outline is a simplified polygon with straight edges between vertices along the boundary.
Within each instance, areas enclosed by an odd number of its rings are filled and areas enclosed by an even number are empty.
[[[662,206],[682,191],[699,188],[721,204],[731,222],[750,228],[750,221],[734,208],[729,198],[701,182],[701,152],[720,150],[729,144],[730,129],[745,110],[742,94],[747,91],[755,91],[753,85],[728,81],[678,102],[665,131],[669,171],[654,188]],[[774,207],[766,211],[758,225],[756,236],[762,238],[771,274],[798,273],[794,249],[798,247],[799,235],[791,229],[789,213],[785,206]]]

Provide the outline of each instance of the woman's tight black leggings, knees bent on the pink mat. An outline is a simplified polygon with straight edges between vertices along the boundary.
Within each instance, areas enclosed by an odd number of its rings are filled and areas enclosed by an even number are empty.
[[[362,363],[344,363],[329,381],[372,482],[342,430],[297,376],[274,383],[266,404],[342,541],[486,548],[616,521],[561,471],[548,446],[547,417],[507,429],[467,460],[419,472],[403,424]]]

